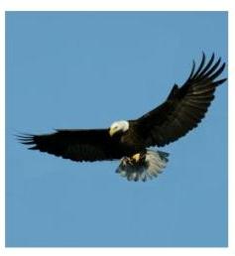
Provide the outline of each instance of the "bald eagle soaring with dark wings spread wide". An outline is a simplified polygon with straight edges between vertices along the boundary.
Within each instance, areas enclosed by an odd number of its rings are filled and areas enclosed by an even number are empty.
[[[175,84],[166,101],[135,120],[121,120],[107,129],[57,129],[51,134],[18,137],[31,150],[47,152],[76,162],[121,159],[116,173],[128,181],[147,181],[163,172],[169,154],[150,150],[163,147],[195,128],[214,98],[215,88],[226,78],[217,79],[225,67],[214,54],[206,62],[202,55],[179,87]]]

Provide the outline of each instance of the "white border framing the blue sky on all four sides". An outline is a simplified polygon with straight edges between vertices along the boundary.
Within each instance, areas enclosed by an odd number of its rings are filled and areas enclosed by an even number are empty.
[[[2,62],[0,63],[0,81],[1,81],[1,124],[5,124],[4,112],[5,112],[5,11],[229,11],[229,70],[234,69],[234,51],[231,47],[235,46],[234,42],[234,28],[235,24],[235,11],[232,9],[234,7],[234,1],[232,0],[39,0],[38,2],[32,0],[2,0],[0,3],[0,56]],[[233,68],[230,68],[232,66]],[[232,95],[235,95],[235,73],[229,71],[229,113],[234,113],[234,102],[232,101]],[[232,109],[232,110],[231,110]],[[2,131],[5,127],[2,127]],[[234,187],[232,181],[234,181],[235,168],[232,163],[232,143],[234,141],[234,136],[232,131],[235,130],[234,118],[229,115],[229,247],[228,248],[5,248],[5,166],[4,166],[4,150],[5,150],[5,134],[1,133],[1,215],[0,215],[0,241],[1,241],[1,255],[120,255],[122,253],[127,253],[130,255],[234,255],[235,253],[235,241],[234,241],[234,199],[233,192]],[[233,171],[233,172],[232,172]]]

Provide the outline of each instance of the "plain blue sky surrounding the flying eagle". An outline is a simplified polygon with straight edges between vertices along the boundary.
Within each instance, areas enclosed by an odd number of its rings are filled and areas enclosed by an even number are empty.
[[[6,246],[226,246],[227,83],[196,130],[161,148],[170,162],[147,183],[14,137],[137,118],[202,51],[227,62],[225,12],[8,12]]]

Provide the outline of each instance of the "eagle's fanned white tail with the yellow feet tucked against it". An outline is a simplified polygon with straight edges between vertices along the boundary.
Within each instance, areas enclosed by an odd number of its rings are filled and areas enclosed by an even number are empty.
[[[124,157],[117,169],[117,173],[126,177],[128,181],[147,181],[163,172],[168,162],[169,154],[161,151],[147,150],[131,157]]]

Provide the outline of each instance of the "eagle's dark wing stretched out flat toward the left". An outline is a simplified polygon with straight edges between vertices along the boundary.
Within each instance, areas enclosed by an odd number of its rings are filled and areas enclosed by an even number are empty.
[[[108,129],[57,130],[45,135],[18,136],[29,149],[47,152],[73,161],[101,161],[120,159],[125,154],[122,145],[111,138]]]

